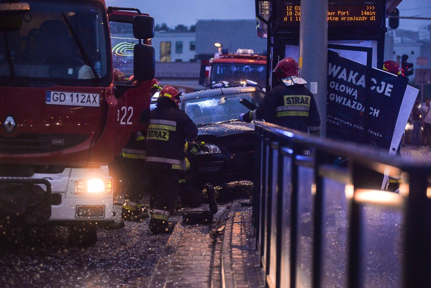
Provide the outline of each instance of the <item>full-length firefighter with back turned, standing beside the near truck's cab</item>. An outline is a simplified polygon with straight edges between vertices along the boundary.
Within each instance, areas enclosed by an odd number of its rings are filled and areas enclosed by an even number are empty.
[[[141,123],[148,124],[145,168],[151,195],[149,228],[153,234],[174,231],[168,220],[179,194],[184,144],[195,140],[198,133],[194,122],[178,108],[180,97],[175,88],[165,86],[157,98],[157,107],[141,115]]]

